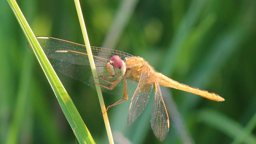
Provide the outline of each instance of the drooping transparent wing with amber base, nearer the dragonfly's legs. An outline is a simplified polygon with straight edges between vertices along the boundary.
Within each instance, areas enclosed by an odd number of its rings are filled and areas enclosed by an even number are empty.
[[[138,87],[132,96],[132,102],[130,104],[128,112],[128,124],[132,124],[138,116],[143,112],[144,108],[148,104],[152,88],[154,84],[154,75],[150,72],[148,65],[145,65],[140,75],[140,81]]]

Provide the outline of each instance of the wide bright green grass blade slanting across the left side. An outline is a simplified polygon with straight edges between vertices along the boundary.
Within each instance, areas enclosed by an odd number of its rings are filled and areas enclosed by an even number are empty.
[[[68,120],[78,142],[95,143],[72,100],[68,96],[58,76],[50,65],[50,62],[48,61],[42,48],[40,48],[40,45],[37,42],[32,30],[28,26],[28,23],[18,7],[18,4],[15,0],[8,0],[8,3],[12,8],[26,38],[28,39],[29,44],[32,46],[32,50],[36,55],[36,58],[38,59],[38,62],[42,67],[42,70],[44,71],[44,74],[46,75],[46,78],[48,79],[48,82],[50,83],[60,107],[62,108],[62,111],[64,112],[64,115],[66,116],[66,119]]]

